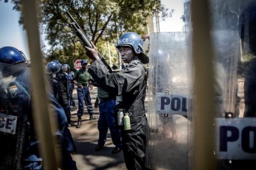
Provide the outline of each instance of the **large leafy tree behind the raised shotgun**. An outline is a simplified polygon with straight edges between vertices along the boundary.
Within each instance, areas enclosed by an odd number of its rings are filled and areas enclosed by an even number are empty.
[[[0,0],[1,1],[1,0]],[[6,1],[6,0],[5,0]],[[20,12],[19,24],[23,24],[22,6],[20,0],[12,0],[14,10]],[[65,11],[69,11],[91,41],[97,44],[116,44],[118,37],[127,31],[138,34],[147,33],[146,25],[155,11],[166,9],[160,0],[41,0],[40,31],[50,46],[48,60],[59,59],[69,63],[85,56],[79,39],[69,25]],[[102,41],[102,42],[100,42]],[[99,51],[106,52],[106,45],[97,46]]]

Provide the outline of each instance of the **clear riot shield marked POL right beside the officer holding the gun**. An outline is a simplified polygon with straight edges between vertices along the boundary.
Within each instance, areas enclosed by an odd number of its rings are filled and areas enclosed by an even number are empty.
[[[151,169],[188,169],[189,40],[185,32],[150,34],[146,167]]]

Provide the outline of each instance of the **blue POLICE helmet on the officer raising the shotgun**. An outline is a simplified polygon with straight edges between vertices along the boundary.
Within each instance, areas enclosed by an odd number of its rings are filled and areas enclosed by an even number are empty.
[[[119,49],[120,46],[129,46],[133,48],[135,54],[139,54],[138,56],[141,58],[142,63],[148,63],[149,59],[146,54],[144,54],[142,45],[143,41],[141,36],[135,32],[126,32],[120,37],[115,47]]]

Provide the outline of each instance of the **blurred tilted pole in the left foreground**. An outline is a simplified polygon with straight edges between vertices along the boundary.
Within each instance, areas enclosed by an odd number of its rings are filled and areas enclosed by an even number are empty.
[[[24,12],[24,26],[27,30],[28,45],[31,56],[31,81],[32,81],[32,103],[33,118],[36,125],[36,134],[40,141],[40,154],[43,158],[44,169],[57,169],[55,140],[53,131],[55,126],[50,117],[47,97],[47,86],[40,49],[39,27],[38,27],[38,1],[22,1]],[[51,114],[52,115],[52,114]],[[56,125],[56,123],[55,123]]]

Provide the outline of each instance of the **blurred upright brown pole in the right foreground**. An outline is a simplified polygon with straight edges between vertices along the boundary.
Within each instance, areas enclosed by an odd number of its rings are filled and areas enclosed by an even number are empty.
[[[214,168],[214,88],[213,51],[210,38],[209,2],[193,0],[192,59],[195,73],[194,166],[196,170]]]

